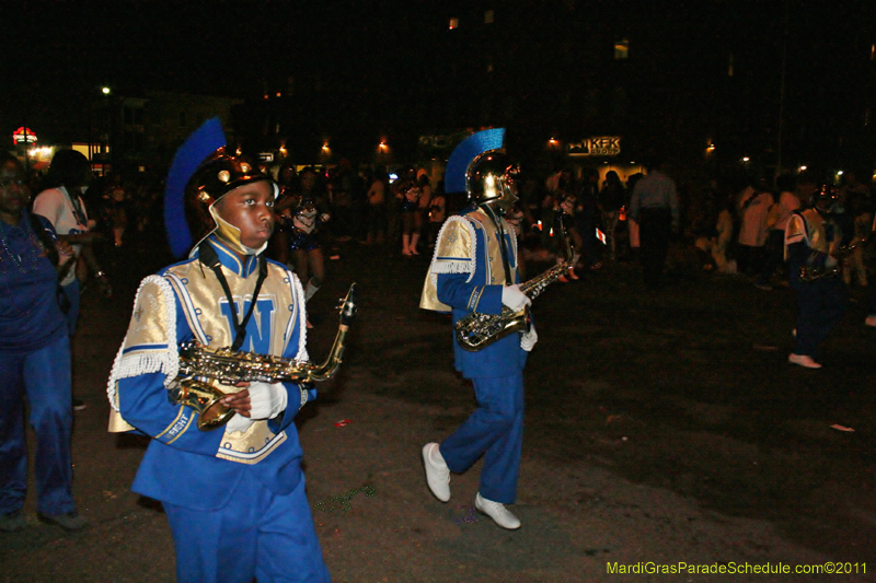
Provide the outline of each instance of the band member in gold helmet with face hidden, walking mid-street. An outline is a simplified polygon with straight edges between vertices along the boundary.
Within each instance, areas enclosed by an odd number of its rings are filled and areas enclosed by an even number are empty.
[[[520,291],[516,237],[502,218],[517,200],[504,136],[504,129],[474,133],[448,161],[446,191],[468,193],[471,205],[441,229],[419,306],[450,312],[453,323],[475,311],[499,314],[503,306],[517,312],[530,304]],[[450,473],[463,473],[484,456],[474,508],[508,529],[520,527],[506,504],[517,499],[523,366],[537,340],[532,328],[468,352],[454,338],[456,368],[472,380],[477,409],[443,442],[423,447],[428,487],[442,502],[450,499]]]

